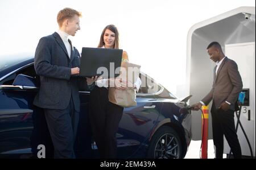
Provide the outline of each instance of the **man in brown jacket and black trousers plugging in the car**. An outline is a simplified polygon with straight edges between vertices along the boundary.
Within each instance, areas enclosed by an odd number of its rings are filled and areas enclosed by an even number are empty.
[[[202,105],[208,105],[213,99],[211,113],[216,158],[222,158],[223,155],[223,135],[234,158],[241,158],[241,147],[234,128],[234,111],[237,110],[237,98],[242,90],[242,79],[236,62],[224,55],[218,42],[210,43],[207,52],[210,59],[217,64],[213,72],[212,90],[199,103],[192,105],[192,109],[199,110]]]

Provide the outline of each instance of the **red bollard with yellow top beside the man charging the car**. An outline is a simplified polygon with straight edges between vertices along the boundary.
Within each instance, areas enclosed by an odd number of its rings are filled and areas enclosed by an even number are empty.
[[[208,113],[209,107],[202,106],[202,148],[201,148],[201,159],[207,159],[207,150],[208,150]]]

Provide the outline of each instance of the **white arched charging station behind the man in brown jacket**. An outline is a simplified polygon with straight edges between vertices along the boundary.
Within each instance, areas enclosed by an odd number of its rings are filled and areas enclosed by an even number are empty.
[[[239,7],[191,27],[187,37],[186,65],[186,92],[193,95],[189,104],[199,102],[212,88],[215,63],[209,59],[206,48],[215,41],[222,45],[225,56],[238,65],[245,92],[240,121],[255,156],[255,7]],[[236,123],[236,114],[234,117]],[[250,156],[249,146],[240,127],[237,134],[242,155]],[[192,139],[201,140],[200,111],[192,111]],[[209,139],[212,139],[210,114]],[[228,143],[224,140],[224,154],[229,154],[229,151]]]

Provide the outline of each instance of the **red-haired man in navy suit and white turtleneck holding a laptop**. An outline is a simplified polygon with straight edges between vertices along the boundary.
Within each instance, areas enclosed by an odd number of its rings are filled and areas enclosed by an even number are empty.
[[[86,88],[86,81],[92,84],[97,79],[77,77],[80,54],[68,36],[75,36],[80,30],[79,18],[76,10],[59,11],[59,31],[41,38],[35,52],[34,67],[40,76],[40,90],[34,105],[44,109],[56,158],[75,158],[73,144],[79,122],[79,86]]]

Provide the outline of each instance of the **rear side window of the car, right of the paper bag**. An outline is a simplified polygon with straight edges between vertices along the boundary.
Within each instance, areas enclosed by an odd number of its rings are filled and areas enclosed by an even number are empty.
[[[161,87],[158,83],[151,77],[147,76],[146,74],[139,74],[139,78],[141,78],[142,84],[141,88],[139,88],[139,94],[153,94],[159,92]]]

